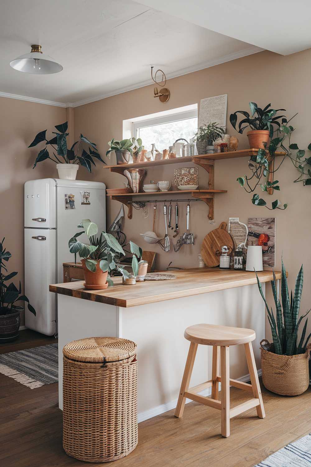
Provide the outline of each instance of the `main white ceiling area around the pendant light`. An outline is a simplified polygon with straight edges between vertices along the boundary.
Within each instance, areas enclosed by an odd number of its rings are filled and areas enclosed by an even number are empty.
[[[131,0],[1,0],[0,95],[81,105],[151,83],[151,64],[170,78],[261,50],[174,13]],[[41,44],[63,71],[12,69],[9,62],[30,52],[31,44]]]

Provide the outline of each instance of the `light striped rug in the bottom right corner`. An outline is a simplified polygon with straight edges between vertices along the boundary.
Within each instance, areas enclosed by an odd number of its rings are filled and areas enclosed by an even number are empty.
[[[311,467],[311,433],[271,454],[255,467]]]

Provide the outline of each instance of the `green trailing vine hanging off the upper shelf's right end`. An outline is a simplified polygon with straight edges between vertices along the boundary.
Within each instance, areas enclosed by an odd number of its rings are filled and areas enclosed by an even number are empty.
[[[264,149],[258,149],[257,155],[250,157],[249,170],[251,171],[251,175],[244,175],[243,177],[237,178],[237,182],[247,193],[254,193],[258,188],[260,188],[262,192],[269,192],[271,189],[280,191],[279,181],[271,181],[269,178],[271,174],[274,175],[277,170],[280,169],[287,157],[299,172],[299,177],[294,180],[294,183],[303,182],[304,185],[311,185],[311,156],[305,156],[305,149],[299,149],[296,143],[291,143],[291,135],[295,131],[295,128],[292,127],[292,125],[289,125],[289,123],[296,115],[297,113],[290,120],[287,120],[286,117],[282,116],[282,124],[279,126],[279,122],[274,121],[274,124],[277,123],[277,129],[272,132],[272,136],[276,133],[276,137],[272,137],[269,146],[264,143]],[[271,127],[272,125],[270,126],[270,130]],[[275,167],[277,150],[282,151],[283,156],[281,156],[281,161],[278,162]],[[291,150],[296,150],[296,154],[293,155]],[[308,146],[308,150],[311,151],[311,143]],[[280,159],[278,157],[278,161],[279,160]],[[279,199],[275,199],[272,201],[270,207],[258,193],[253,194],[251,201],[253,205],[264,206],[269,210],[284,210],[288,206],[287,203],[282,205]]]

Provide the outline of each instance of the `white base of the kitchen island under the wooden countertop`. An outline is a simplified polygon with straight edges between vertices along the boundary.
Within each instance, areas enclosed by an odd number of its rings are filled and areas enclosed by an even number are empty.
[[[264,291],[264,283],[262,287]],[[265,336],[265,310],[256,284],[128,308],[58,294],[60,409],[62,348],[72,340],[99,336],[124,337],[137,344],[138,422],[174,408],[189,348],[184,331],[199,323],[254,329],[252,344],[261,368],[259,342]],[[191,386],[211,379],[211,361],[212,347],[199,346]],[[230,376],[248,379],[243,346],[230,348]]]

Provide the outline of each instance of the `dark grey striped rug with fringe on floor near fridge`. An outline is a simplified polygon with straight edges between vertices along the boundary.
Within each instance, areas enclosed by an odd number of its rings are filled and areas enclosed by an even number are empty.
[[[58,344],[0,355],[0,373],[30,389],[58,382]]]

